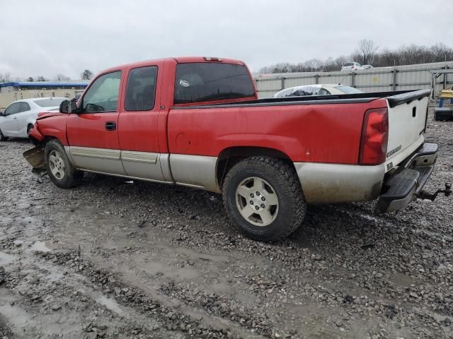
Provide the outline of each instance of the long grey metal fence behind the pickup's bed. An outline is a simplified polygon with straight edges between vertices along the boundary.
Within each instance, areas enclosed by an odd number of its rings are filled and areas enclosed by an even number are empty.
[[[363,69],[355,72],[275,73],[255,76],[259,97],[272,97],[278,91],[299,86],[322,83],[342,83],[364,92],[412,90],[431,88],[430,71],[453,69],[453,61],[395,67]],[[453,85],[453,74],[445,73],[435,79],[434,91]]]

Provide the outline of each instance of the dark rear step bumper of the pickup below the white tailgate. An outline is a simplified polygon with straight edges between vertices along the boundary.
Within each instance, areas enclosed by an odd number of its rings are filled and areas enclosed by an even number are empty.
[[[423,143],[385,179],[375,213],[404,208],[422,194],[437,160],[437,143]],[[423,196],[422,196],[423,197]]]

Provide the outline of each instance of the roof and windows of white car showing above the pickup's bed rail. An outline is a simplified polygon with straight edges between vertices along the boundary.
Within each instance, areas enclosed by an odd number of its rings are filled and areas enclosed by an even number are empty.
[[[304,85],[291,88],[285,88],[280,92],[275,93],[274,97],[304,97],[306,95],[336,95],[336,94],[354,94],[363,93],[357,88],[353,88],[340,83],[319,84],[319,85]]]

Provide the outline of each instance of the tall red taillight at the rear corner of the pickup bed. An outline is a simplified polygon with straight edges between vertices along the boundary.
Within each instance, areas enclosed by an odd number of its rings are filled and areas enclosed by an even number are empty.
[[[386,159],[389,141],[389,112],[386,108],[368,109],[360,140],[360,165],[379,165]]]

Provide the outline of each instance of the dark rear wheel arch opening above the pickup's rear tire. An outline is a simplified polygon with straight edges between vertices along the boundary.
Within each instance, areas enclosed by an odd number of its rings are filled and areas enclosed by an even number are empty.
[[[291,158],[286,153],[281,150],[277,150],[276,148],[258,146],[233,146],[225,148],[221,153],[219,153],[219,157],[217,158],[216,179],[217,184],[219,185],[219,190],[222,190],[222,184],[226,173],[228,173],[231,167],[243,159],[255,156],[267,156],[283,160],[295,170],[294,163]]]

